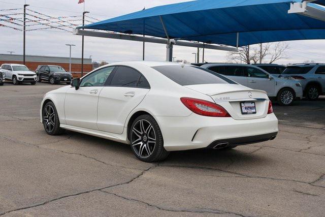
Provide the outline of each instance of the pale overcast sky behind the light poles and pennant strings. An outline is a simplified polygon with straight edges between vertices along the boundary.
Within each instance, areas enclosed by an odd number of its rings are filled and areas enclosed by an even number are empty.
[[[151,8],[159,5],[184,2],[186,0],[85,0],[89,16],[101,20],[120,16],[127,13]],[[51,16],[76,16],[83,11],[83,5],[78,0],[0,0],[0,9],[22,8],[29,4],[31,10]],[[4,14],[4,13],[3,13]],[[75,44],[72,56],[81,57],[81,37],[71,33],[33,31],[26,33],[26,54],[69,56],[69,48],[65,44]],[[287,58],[279,60],[279,64],[302,63],[305,60],[325,61],[325,40],[305,40],[288,42]],[[22,54],[22,32],[0,27],[0,53],[15,51]],[[196,48],[174,47],[177,59],[194,61]],[[122,40],[85,37],[85,57],[92,56],[93,60],[126,61],[142,59],[142,43]],[[226,51],[206,50],[205,60],[209,62],[226,61]],[[201,54],[202,56],[202,54]],[[165,60],[166,46],[146,44],[146,60]]]

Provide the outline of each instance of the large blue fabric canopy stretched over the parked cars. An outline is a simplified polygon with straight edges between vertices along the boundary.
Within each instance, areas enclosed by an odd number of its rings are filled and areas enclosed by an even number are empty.
[[[325,39],[325,22],[288,14],[292,0],[197,0],[159,6],[83,26],[87,29],[239,46]],[[325,0],[319,0],[325,2]],[[322,7],[308,4],[311,7]],[[325,11],[325,10],[324,10]]]

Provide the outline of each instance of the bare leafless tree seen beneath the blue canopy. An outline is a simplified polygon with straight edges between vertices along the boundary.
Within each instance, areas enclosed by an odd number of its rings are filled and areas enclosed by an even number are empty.
[[[285,52],[288,44],[278,42],[276,44],[265,43],[261,46],[239,47],[238,52],[229,52],[228,61],[235,63],[274,63],[279,59],[286,58]]]

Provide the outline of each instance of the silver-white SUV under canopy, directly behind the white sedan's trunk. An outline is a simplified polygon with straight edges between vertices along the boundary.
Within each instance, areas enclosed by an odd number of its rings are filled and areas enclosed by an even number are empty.
[[[265,90],[282,106],[289,106],[303,98],[303,88],[297,81],[278,78],[265,70],[244,64],[204,64],[201,67],[225,75],[252,89]]]

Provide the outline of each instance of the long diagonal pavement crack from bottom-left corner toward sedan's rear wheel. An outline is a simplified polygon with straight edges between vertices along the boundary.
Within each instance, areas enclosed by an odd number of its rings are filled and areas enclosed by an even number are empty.
[[[0,216],[1,215],[4,215],[4,214],[8,214],[10,212],[14,212],[14,211],[19,211],[19,210],[24,210],[24,209],[29,209],[29,208],[35,208],[35,207],[38,207],[38,206],[43,206],[47,203],[50,203],[50,202],[53,202],[53,201],[56,201],[56,200],[60,200],[60,199],[63,199],[63,198],[68,198],[68,197],[73,197],[73,196],[78,196],[78,195],[83,195],[83,194],[87,194],[87,193],[91,193],[91,192],[95,192],[95,191],[101,191],[101,190],[104,190],[104,189],[109,189],[109,188],[113,188],[113,187],[116,187],[116,186],[119,186],[119,185],[123,185],[123,184],[129,184],[131,183],[132,181],[134,181],[135,179],[141,177],[143,174],[145,174],[145,172],[149,171],[150,169],[153,169],[155,167],[157,167],[158,165],[154,165],[148,169],[145,169],[143,170],[139,175],[137,175],[136,177],[132,178],[131,180],[128,180],[126,182],[122,182],[122,183],[118,183],[118,184],[113,184],[113,185],[110,185],[108,187],[104,187],[104,188],[100,188],[100,189],[93,189],[93,190],[89,190],[89,191],[84,191],[84,192],[79,192],[79,193],[75,193],[75,194],[70,194],[70,195],[64,195],[64,196],[61,196],[61,197],[58,197],[58,198],[54,198],[54,199],[51,199],[51,200],[47,200],[45,202],[42,202],[42,203],[39,203],[39,204],[35,204],[35,205],[31,205],[31,206],[25,206],[25,207],[21,207],[21,208],[17,208],[17,209],[13,209],[13,210],[9,210],[9,211],[5,211],[5,212],[2,212],[0,213]]]

